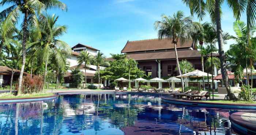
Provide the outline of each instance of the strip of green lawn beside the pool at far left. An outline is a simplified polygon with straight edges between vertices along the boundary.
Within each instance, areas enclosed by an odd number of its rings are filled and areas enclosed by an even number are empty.
[[[46,97],[53,96],[54,93],[31,93],[31,94],[22,94],[20,96],[15,96],[13,93],[1,93],[0,99],[18,99],[18,98],[28,98],[28,97]]]

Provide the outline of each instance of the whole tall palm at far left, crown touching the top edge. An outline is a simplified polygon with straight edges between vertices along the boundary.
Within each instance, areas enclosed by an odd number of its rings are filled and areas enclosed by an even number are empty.
[[[64,3],[59,0],[2,0],[0,6],[11,5],[0,13],[0,21],[3,22],[3,31],[9,33],[10,30],[18,23],[20,16],[23,16],[22,22],[22,67],[20,70],[18,95],[21,93],[23,72],[26,64],[26,43],[29,26],[38,26],[36,12],[48,8],[60,8],[67,10]],[[23,15],[21,15],[23,14]]]

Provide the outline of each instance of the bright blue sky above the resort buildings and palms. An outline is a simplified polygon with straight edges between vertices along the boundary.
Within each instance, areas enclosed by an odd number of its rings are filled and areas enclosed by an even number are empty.
[[[60,0],[67,4],[68,12],[54,10],[59,24],[67,25],[67,34],[60,37],[74,46],[83,43],[101,50],[107,57],[120,53],[127,40],[157,38],[154,22],[161,15],[173,15],[178,10],[189,16],[190,12],[181,0]],[[223,5],[222,29],[234,35],[233,14]],[[0,9],[3,9],[0,8]],[[242,16],[245,20],[245,16]],[[194,21],[197,21],[195,18]],[[203,22],[210,19],[208,16]],[[230,40],[225,50],[234,43]]]

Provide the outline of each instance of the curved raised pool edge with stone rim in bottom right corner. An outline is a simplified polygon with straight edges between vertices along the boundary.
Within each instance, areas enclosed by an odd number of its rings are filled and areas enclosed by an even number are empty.
[[[230,120],[232,122],[232,125],[238,130],[238,131],[242,131],[242,132],[246,132],[247,134],[256,134],[255,131],[255,127],[256,124],[253,124],[251,121],[249,120],[245,120],[242,118],[242,115],[244,113],[248,113],[248,112],[236,112],[236,113],[232,113],[230,115]]]

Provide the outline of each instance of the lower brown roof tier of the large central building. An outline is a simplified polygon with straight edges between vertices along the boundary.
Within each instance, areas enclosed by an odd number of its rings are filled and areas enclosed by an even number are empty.
[[[201,54],[197,50],[178,50],[178,58],[199,58]],[[127,57],[133,58],[136,61],[141,60],[154,60],[154,59],[175,59],[175,51],[159,51],[153,53],[136,53],[126,54]],[[218,53],[213,53],[213,56],[219,56]]]

